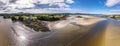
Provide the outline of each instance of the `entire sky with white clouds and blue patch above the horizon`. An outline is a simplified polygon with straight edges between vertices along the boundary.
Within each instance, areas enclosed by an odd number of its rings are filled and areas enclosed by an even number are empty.
[[[0,13],[120,14],[120,0],[0,0]]]

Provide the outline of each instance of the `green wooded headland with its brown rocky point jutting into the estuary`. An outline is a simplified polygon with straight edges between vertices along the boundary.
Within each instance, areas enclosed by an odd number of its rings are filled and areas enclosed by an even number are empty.
[[[46,22],[63,20],[68,16],[64,14],[7,14],[3,17],[5,19],[12,19],[13,22],[22,22],[37,32],[47,32],[50,29]]]

